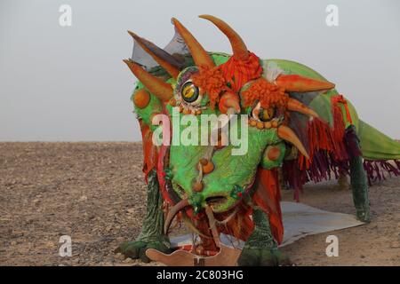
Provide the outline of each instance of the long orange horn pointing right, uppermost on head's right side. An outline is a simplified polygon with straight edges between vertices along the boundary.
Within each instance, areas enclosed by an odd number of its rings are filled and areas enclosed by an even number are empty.
[[[285,91],[322,91],[331,90],[335,87],[334,83],[319,81],[300,75],[279,75],[276,84],[283,87]]]

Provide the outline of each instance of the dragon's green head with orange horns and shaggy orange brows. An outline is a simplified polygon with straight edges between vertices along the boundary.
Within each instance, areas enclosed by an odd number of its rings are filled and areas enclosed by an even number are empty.
[[[258,169],[280,167],[289,152],[287,149],[308,158],[306,147],[288,122],[291,112],[309,119],[317,114],[288,93],[334,87],[332,83],[300,75],[266,74],[262,61],[247,50],[242,38],[228,24],[210,15],[200,17],[210,20],[228,36],[233,50],[231,57],[206,52],[179,20],[172,19],[188,47],[189,66],[132,32],[135,42],[167,75],[156,75],[132,59],[124,60],[140,80],[133,101],[142,121],[142,132],[147,128],[148,133],[155,132],[157,126],[152,120],[161,113],[172,122],[180,121],[179,128],[172,128],[172,140],[188,140],[179,145],[171,143],[167,154],[160,154],[160,148],[156,148],[158,162],[153,162],[153,166],[164,171],[159,178],[166,178],[165,192],[174,201],[167,227],[180,209],[190,208],[195,214],[206,208],[217,214],[234,209],[249,195]],[[216,131],[210,127],[205,132],[206,143],[202,143],[204,132],[199,129],[204,123],[209,125],[210,117],[220,114],[227,114],[230,121],[217,122]],[[198,127],[194,128],[195,125]],[[143,134],[143,139],[146,135]],[[241,143],[235,141],[239,136]],[[192,138],[200,142],[191,143]],[[244,152],[232,154],[243,144]]]

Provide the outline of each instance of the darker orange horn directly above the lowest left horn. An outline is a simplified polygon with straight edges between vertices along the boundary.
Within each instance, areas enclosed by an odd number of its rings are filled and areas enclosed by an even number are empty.
[[[148,40],[141,38],[130,30],[128,30],[128,34],[131,35],[135,42],[138,43],[144,51],[148,52],[148,54],[155,59],[156,62],[163,67],[166,72],[172,75],[172,77],[175,79],[178,77],[180,74],[180,69],[176,66],[178,66],[179,63],[176,62],[176,59],[174,59],[171,54],[157,47],[156,44],[150,43]],[[172,62],[176,66],[173,66]]]

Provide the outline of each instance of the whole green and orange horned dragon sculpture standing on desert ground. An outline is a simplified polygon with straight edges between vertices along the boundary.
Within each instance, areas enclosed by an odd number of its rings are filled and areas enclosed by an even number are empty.
[[[290,264],[278,249],[284,234],[280,185],[293,189],[298,200],[302,185],[331,176],[349,175],[356,217],[368,222],[368,184],[384,178],[382,170],[399,174],[400,145],[359,120],[348,99],[316,71],[289,60],[259,59],[223,20],[200,18],[228,37],[232,55],[205,51],[176,19],[175,36],[164,49],[129,31],[135,44],[124,62],[139,79],[132,102],[148,200],[139,237],[117,251],[144,262],[150,261],[147,250],[172,256],[177,251],[168,234],[177,217],[176,224],[196,233],[190,254],[218,254],[225,233],[245,242],[239,265]],[[210,145],[157,146],[156,114],[190,116],[192,123],[203,114],[245,115],[248,150],[233,155],[236,146],[223,131]],[[239,133],[244,130],[236,124]],[[172,130],[171,137],[182,131]]]

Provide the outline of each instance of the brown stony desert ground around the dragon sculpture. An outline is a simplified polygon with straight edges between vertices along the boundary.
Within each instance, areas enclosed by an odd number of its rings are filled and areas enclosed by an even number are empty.
[[[0,143],[0,264],[143,265],[114,253],[140,233],[141,161],[140,143]],[[370,200],[370,224],[283,250],[295,265],[400,265],[400,178],[373,185]],[[307,185],[300,201],[355,213],[350,191],[333,181]],[[337,257],[325,255],[329,234],[339,238]],[[61,235],[72,238],[71,257],[59,256]]]

